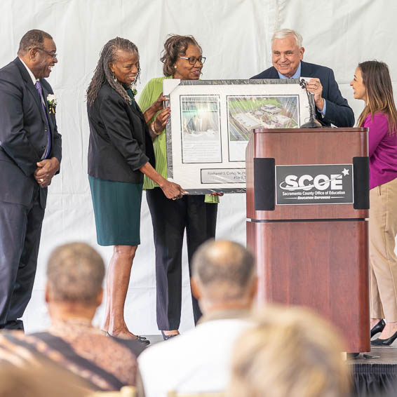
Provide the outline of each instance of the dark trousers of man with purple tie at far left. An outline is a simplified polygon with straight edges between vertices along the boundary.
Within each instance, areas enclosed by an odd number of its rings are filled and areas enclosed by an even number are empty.
[[[36,275],[44,209],[39,187],[29,207],[0,201],[0,328],[22,329]]]

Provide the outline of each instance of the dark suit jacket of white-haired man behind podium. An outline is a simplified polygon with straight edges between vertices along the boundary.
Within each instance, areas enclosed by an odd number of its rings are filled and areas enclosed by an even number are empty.
[[[347,100],[342,97],[337,82],[335,81],[332,69],[325,66],[315,65],[301,61],[302,77],[317,77],[323,86],[323,98],[327,101],[327,109],[323,117],[316,109],[316,118],[330,126],[332,123],[337,127],[353,127],[354,113]],[[274,66],[264,70],[264,72],[251,77],[251,79],[280,79],[278,72]]]

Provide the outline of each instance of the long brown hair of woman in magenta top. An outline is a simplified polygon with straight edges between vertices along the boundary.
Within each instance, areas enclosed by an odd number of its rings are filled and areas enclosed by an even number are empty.
[[[376,112],[382,112],[389,119],[389,134],[396,133],[397,111],[393,100],[389,67],[384,62],[368,60],[359,63],[358,68],[363,75],[366,95],[365,108],[358,117],[358,126],[363,126],[368,114],[373,118]]]

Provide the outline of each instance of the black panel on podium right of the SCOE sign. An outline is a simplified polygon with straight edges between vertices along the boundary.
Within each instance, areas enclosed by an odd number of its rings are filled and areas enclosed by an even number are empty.
[[[353,158],[353,186],[355,210],[370,208],[370,161],[368,157]]]

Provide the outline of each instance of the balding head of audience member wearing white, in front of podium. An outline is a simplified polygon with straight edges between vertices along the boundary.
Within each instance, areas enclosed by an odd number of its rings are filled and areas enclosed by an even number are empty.
[[[257,278],[253,255],[232,241],[209,240],[196,250],[191,280],[203,311],[249,308]]]

